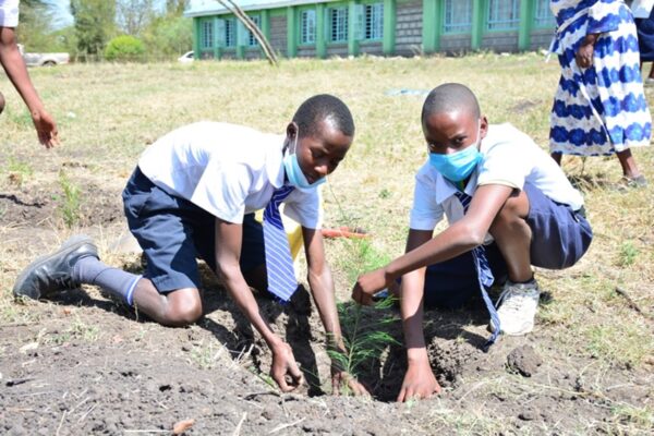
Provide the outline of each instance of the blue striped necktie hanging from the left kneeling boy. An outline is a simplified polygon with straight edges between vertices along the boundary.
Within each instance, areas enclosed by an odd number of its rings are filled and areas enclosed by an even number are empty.
[[[264,210],[264,244],[268,291],[282,302],[288,302],[298,288],[291,247],[279,214],[279,205],[292,191],[293,186],[289,185],[275,190],[270,203]]]

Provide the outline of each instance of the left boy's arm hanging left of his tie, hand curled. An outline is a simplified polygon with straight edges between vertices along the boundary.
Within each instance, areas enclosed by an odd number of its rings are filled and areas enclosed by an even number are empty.
[[[289,344],[275,335],[268,323],[262,317],[256,300],[243,278],[239,265],[242,235],[243,227],[241,225],[216,218],[217,272],[241,312],[268,344],[272,352],[270,375],[279,385],[279,388],[287,392],[302,384],[302,373],[295,363],[295,358]],[[290,386],[286,379],[287,374],[291,376]]]

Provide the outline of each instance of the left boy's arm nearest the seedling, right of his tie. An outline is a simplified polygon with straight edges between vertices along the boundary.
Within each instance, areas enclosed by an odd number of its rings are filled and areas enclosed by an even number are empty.
[[[306,264],[308,269],[308,286],[314,302],[320,315],[320,320],[327,334],[327,347],[337,352],[346,352],[342,339],[336,299],[334,295],[334,280],[331,271],[325,261],[325,247],[323,234],[319,230],[302,228]],[[331,360],[331,387],[334,393],[338,395],[341,387],[348,386],[354,395],[367,395],[367,390],[338,362]]]

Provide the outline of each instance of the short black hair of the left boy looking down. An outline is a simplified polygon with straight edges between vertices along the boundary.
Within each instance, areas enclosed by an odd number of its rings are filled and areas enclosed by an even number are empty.
[[[346,136],[354,136],[354,120],[350,109],[340,98],[332,95],[318,94],[306,99],[293,116],[300,137],[318,133],[322,121],[329,121]]]

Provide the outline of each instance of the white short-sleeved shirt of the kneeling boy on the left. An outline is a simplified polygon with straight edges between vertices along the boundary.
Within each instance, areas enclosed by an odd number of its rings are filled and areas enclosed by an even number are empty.
[[[284,136],[203,121],[177,129],[141,156],[138,168],[157,186],[229,222],[266,207],[284,181]],[[318,190],[293,190],[284,215],[308,229],[322,221]]]

